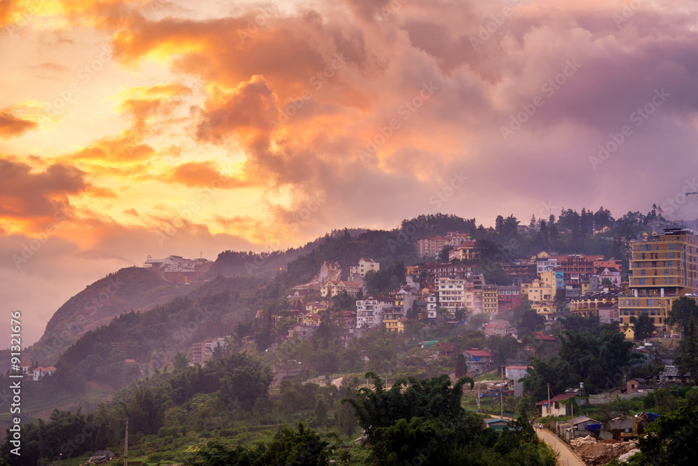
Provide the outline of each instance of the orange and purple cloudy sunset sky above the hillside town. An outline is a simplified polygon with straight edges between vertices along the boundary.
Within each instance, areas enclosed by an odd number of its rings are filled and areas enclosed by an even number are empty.
[[[697,10],[0,0],[0,310],[420,213],[696,218]]]

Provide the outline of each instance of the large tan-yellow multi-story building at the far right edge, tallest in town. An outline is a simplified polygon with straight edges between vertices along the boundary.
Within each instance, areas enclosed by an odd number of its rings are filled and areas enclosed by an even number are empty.
[[[660,333],[670,333],[667,313],[685,294],[698,292],[698,239],[692,230],[665,228],[663,234],[631,241],[630,293],[619,296],[621,331],[634,338],[630,317],[646,315]]]

